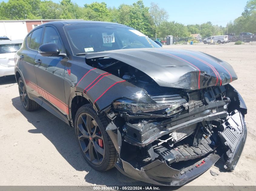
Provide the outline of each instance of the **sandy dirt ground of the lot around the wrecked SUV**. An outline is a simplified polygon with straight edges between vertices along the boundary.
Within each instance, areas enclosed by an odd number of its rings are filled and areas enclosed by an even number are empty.
[[[197,50],[229,62],[238,75],[231,84],[248,107],[247,141],[234,172],[218,161],[210,169],[217,176],[208,170],[187,185],[256,185],[256,43],[164,48]],[[0,100],[0,185],[145,185],[115,168],[101,173],[88,166],[72,128],[45,109],[23,109],[14,76],[0,78]]]

